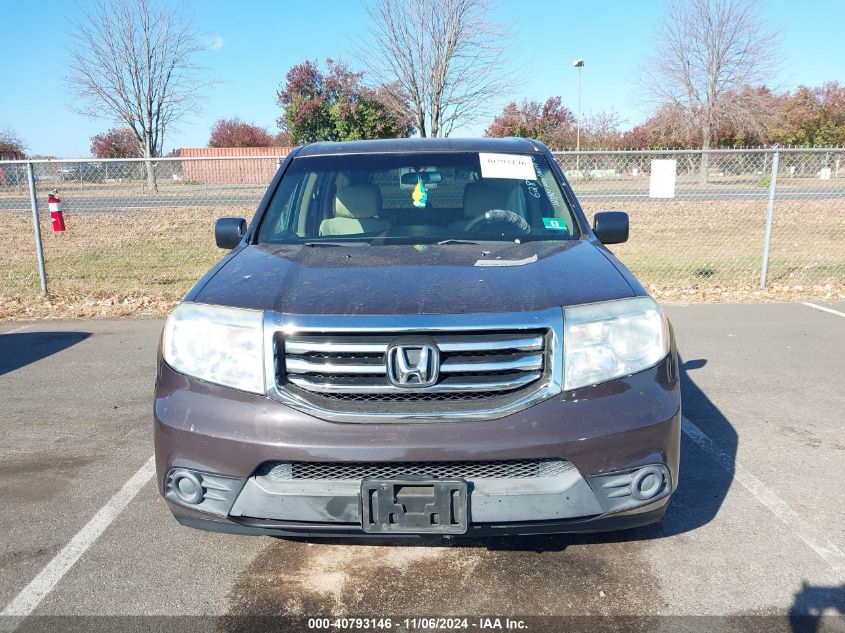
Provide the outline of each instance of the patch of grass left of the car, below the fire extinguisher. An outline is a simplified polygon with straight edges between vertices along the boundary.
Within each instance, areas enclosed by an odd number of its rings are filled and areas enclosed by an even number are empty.
[[[0,213],[0,318],[157,315],[224,255],[218,217],[246,209],[80,213],[54,233],[42,221],[49,299],[41,299],[31,218]]]

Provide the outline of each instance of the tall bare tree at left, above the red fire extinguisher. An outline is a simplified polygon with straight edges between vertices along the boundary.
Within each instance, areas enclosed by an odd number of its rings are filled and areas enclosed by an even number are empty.
[[[165,131],[195,109],[204,85],[193,62],[199,34],[150,0],[97,0],[72,27],[69,82],[82,112],[132,130],[155,190],[149,159],[161,155]]]

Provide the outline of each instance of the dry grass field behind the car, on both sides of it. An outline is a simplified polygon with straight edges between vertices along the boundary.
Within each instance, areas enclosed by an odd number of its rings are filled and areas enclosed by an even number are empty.
[[[778,202],[765,292],[757,287],[765,200],[626,206],[631,239],[612,250],[660,299],[845,298],[845,197]],[[224,255],[214,245],[215,219],[251,213],[232,206],[71,213],[60,234],[43,214],[44,299],[30,215],[0,212],[0,318],[164,314]]]

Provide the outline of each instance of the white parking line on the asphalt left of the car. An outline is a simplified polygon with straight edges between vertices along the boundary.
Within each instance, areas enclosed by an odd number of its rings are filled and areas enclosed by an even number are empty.
[[[70,542],[53,557],[47,566],[33,578],[15,598],[0,612],[0,616],[25,617],[32,613],[38,604],[58,584],[62,577],[73,567],[85,551],[94,544],[105,529],[123,512],[129,502],[155,474],[155,456],[150,457],[141,469],[129,478],[123,488],[108,500],[94,517],[88,521]]]

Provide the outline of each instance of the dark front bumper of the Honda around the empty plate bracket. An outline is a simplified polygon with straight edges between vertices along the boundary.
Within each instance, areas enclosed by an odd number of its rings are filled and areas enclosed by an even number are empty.
[[[273,480],[261,474],[267,462],[499,460],[571,467],[535,480],[469,482],[468,534],[623,529],[659,520],[677,485],[679,384],[670,355],[634,376],[564,392],[495,420],[339,423],[160,363],[155,441],[160,491],[181,523],[202,529],[363,534],[360,481]],[[661,473],[656,494],[639,500],[610,494],[644,467]],[[207,482],[205,499],[181,501],[174,472]]]

